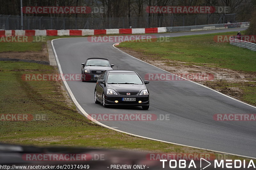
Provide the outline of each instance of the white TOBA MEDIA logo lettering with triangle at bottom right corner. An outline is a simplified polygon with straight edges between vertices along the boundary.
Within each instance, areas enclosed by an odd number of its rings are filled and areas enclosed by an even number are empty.
[[[170,168],[199,168],[198,165],[196,166],[195,161],[194,160],[169,160],[169,165],[168,165],[168,160],[166,159],[161,159],[160,162],[162,162],[162,167],[165,168],[167,166],[169,166]],[[165,165],[167,164],[167,165]],[[211,166],[211,168],[232,168],[232,169],[247,169],[247,168],[255,168],[255,164],[253,162],[253,160],[251,159],[250,161],[246,161],[246,160],[240,160],[240,159],[226,159],[226,160],[218,160],[215,159],[212,162],[209,162],[208,160],[204,159],[204,158],[200,158],[200,169],[203,170],[205,168],[207,168],[208,166]],[[210,168],[210,167],[209,167]]]

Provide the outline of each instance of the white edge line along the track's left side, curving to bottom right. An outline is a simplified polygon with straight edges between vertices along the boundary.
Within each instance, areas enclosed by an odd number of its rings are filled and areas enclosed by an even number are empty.
[[[76,37],[70,37],[70,38],[76,38]],[[85,37],[86,38],[86,37]],[[54,45],[53,45],[53,41],[54,40],[58,40],[58,39],[61,39],[61,38],[57,38],[57,39],[53,39],[51,41],[51,44],[52,44],[52,49],[53,49],[53,52],[54,52],[54,56],[56,58],[56,62],[57,62],[57,66],[59,68],[59,71],[60,71],[60,74],[61,74],[61,78],[62,80],[65,80],[64,77],[63,77],[63,72],[62,72],[62,69],[61,69],[61,66],[60,66],[60,61],[59,61],[59,58],[57,56],[57,53],[56,53],[56,50],[54,48]],[[114,44],[113,44],[114,45]],[[118,49],[119,50],[119,49]],[[120,50],[122,51],[122,50]],[[123,52],[123,51],[122,51]],[[129,55],[129,54],[128,54]],[[131,56],[133,57],[133,56]],[[133,57],[135,58],[135,57]],[[143,61],[144,62],[144,61]],[[146,63],[146,62],[145,62]],[[152,65],[153,66],[153,65]],[[157,67],[158,68],[158,67]],[[163,140],[159,140],[159,139],[154,139],[154,138],[149,138],[149,137],[145,137],[145,136],[140,136],[140,135],[135,135],[135,134],[132,134],[132,133],[128,133],[128,132],[124,132],[122,130],[118,130],[118,129],[115,129],[115,128],[111,128],[103,123],[100,123],[99,121],[93,119],[87,112],[85,112],[85,110],[81,107],[81,105],[77,102],[75,96],[73,95],[71,89],[69,88],[68,86],[68,83],[66,81],[63,81],[71,99],[73,100],[74,104],[76,105],[76,107],[84,114],[84,116],[89,119],[89,120],[92,120],[94,123],[100,125],[100,126],[103,126],[105,128],[108,128],[108,129],[111,129],[111,130],[115,130],[117,132],[121,132],[121,133],[124,133],[124,134],[127,134],[127,135],[132,135],[132,136],[136,136],[136,137],[140,137],[140,138],[144,138],[144,139],[149,139],[149,140],[153,140],[153,141],[158,141],[158,142],[164,142],[164,143],[170,143],[170,144],[174,144],[174,145],[179,145],[179,146],[185,146],[185,147],[190,147],[190,148],[195,148],[195,149],[201,149],[201,150],[205,150],[205,151],[212,151],[212,152],[217,152],[217,153],[222,153],[222,154],[229,154],[229,155],[234,155],[234,156],[239,156],[239,157],[244,157],[244,158],[251,158],[251,159],[256,159],[256,158],[253,158],[253,157],[248,157],[248,156],[243,156],[243,155],[238,155],[238,154],[233,154],[233,153],[228,153],[228,152],[221,152],[221,151],[215,151],[215,150],[210,150],[210,149],[205,149],[205,148],[199,148],[199,147],[194,147],[194,146],[189,146],[189,145],[183,145],[183,144],[179,144],[179,143],[173,143],[173,142],[168,142],[168,141],[163,141]]]

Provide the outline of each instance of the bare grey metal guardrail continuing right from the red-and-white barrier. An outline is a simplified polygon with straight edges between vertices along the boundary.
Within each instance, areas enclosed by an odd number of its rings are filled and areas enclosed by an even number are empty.
[[[224,24],[210,24],[210,25],[195,25],[184,27],[166,27],[166,32],[182,32],[182,31],[201,31],[210,29],[225,29],[225,28],[243,28],[249,27],[250,22],[236,22]]]

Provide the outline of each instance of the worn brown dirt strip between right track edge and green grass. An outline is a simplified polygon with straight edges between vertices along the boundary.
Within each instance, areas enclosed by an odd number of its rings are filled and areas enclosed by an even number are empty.
[[[180,61],[162,59],[153,55],[145,55],[143,52],[134,51],[126,47],[118,47],[124,52],[146,61],[149,64],[162,68],[174,74],[213,74],[214,79],[211,81],[196,81],[214,90],[220,91],[230,97],[243,101],[244,90],[239,87],[226,87],[228,84],[238,83],[243,87],[244,82],[256,82],[256,72],[242,72],[231,69],[215,67],[215,64],[195,64]],[[250,103],[253,104],[253,103]],[[255,105],[255,104],[253,104]]]

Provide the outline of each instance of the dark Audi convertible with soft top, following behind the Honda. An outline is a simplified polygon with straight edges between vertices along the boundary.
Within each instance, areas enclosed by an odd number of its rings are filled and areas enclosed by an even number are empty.
[[[100,74],[105,70],[113,70],[113,64],[106,58],[88,58],[82,63],[82,81],[97,81]]]

